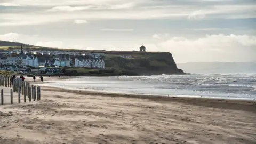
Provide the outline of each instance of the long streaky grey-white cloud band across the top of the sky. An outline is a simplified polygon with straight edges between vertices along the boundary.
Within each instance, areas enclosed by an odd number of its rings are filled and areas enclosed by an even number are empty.
[[[232,1],[233,2],[233,1]],[[13,0],[22,9],[4,9],[0,26],[39,25],[63,20],[147,20],[147,19],[242,19],[256,18],[256,5],[234,1],[153,1],[153,0]],[[6,4],[5,4],[6,5]],[[9,4],[10,5],[10,4]],[[31,14],[33,12],[33,14]],[[12,17],[15,20],[6,19]],[[3,19],[5,21],[3,21]]]

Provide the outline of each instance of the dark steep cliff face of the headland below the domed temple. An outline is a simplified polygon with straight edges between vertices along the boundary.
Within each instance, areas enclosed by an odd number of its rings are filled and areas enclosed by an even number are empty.
[[[169,52],[145,53],[142,58],[125,59],[111,57],[105,60],[106,67],[132,71],[138,75],[185,74],[178,69]]]

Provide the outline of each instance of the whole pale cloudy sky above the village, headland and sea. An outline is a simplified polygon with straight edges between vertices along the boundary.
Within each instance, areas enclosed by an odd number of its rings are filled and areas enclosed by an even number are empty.
[[[256,0],[0,0],[0,40],[256,61]]]

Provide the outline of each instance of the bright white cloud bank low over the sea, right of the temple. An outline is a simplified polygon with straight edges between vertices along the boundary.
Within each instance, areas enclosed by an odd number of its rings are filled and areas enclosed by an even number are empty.
[[[169,51],[179,62],[189,61],[250,61],[255,60],[256,36],[206,35],[195,39],[172,37],[156,44]]]

